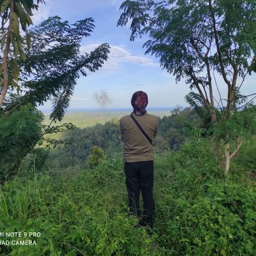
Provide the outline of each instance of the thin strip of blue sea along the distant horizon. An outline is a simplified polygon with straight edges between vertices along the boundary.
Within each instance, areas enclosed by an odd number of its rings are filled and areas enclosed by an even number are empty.
[[[171,111],[174,107],[147,107],[147,111]],[[41,109],[43,113],[51,113],[50,109]],[[132,112],[131,107],[120,109],[68,109],[67,113],[114,113],[114,112]]]

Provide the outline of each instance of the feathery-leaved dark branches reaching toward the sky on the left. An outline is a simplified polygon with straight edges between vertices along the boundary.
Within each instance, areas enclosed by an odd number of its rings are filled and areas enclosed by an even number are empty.
[[[70,25],[50,17],[29,31],[31,48],[20,61],[24,96],[15,104],[41,105],[53,99],[51,119],[64,117],[77,78],[99,70],[110,52],[109,44],[101,44],[90,53],[80,53],[81,41],[93,32],[93,22],[86,18]]]

